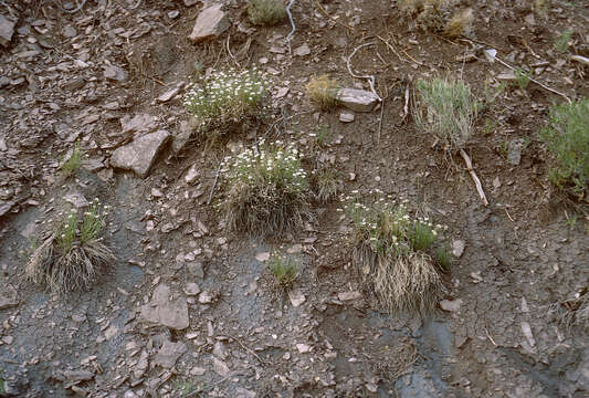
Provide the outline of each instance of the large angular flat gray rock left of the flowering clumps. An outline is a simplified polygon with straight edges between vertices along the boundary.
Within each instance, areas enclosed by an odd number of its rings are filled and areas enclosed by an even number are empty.
[[[133,143],[117,148],[111,157],[111,166],[133,170],[145,178],[157,155],[170,138],[167,130],[158,130],[136,138]]]

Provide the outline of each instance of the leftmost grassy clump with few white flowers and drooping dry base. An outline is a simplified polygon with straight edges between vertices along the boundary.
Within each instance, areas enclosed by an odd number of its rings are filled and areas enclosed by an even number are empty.
[[[98,199],[82,214],[76,209],[60,212],[25,265],[27,279],[56,293],[88,289],[116,260],[101,237],[107,214]]]

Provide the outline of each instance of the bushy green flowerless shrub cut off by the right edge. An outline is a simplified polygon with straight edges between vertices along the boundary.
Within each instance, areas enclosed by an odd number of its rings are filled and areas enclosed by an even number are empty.
[[[555,158],[550,180],[588,197],[589,187],[589,98],[551,108],[548,125],[539,134]]]

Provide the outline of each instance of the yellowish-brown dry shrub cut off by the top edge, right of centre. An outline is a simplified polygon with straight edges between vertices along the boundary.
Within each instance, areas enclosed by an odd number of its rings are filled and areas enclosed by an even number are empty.
[[[440,32],[449,38],[472,32],[473,10],[459,7],[460,0],[399,0],[399,9],[411,28]]]

